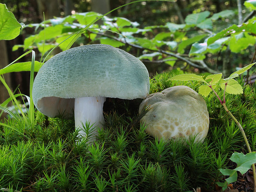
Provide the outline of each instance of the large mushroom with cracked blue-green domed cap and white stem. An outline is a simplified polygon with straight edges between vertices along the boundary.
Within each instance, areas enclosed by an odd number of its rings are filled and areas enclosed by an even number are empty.
[[[104,124],[106,97],[133,100],[149,93],[149,73],[133,55],[110,45],[74,47],[40,68],[32,90],[38,111],[56,117],[75,116],[76,128]],[[82,136],[85,132],[80,130]],[[94,131],[97,134],[97,130]]]

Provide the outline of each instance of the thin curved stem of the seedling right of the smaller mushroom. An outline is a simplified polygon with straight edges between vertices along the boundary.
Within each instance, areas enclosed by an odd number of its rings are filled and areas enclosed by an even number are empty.
[[[246,135],[244,133],[244,129],[242,128],[241,124],[237,121],[237,119],[235,119],[235,117],[232,115],[232,113],[228,110],[225,102],[223,102],[222,105],[223,105],[225,111],[228,113],[228,115],[233,119],[233,121],[235,121],[237,127],[239,128],[239,130],[242,133],[242,136],[244,137],[244,141],[245,141],[245,144],[247,146],[247,149],[248,149],[249,153],[251,153],[251,147],[249,145],[249,142],[247,140],[247,137],[246,137]],[[254,175],[254,192],[256,192],[256,169],[255,169],[255,165],[254,164],[251,167],[252,167],[252,171],[253,171],[253,175]]]

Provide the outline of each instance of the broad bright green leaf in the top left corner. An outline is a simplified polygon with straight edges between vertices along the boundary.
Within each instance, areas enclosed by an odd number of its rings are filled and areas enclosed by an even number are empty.
[[[5,4],[0,3],[0,40],[11,40],[20,33],[21,24],[8,10]]]

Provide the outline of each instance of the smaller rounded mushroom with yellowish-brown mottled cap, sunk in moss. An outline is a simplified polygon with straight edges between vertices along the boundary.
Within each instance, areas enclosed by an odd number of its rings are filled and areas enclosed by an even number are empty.
[[[140,104],[139,112],[149,107],[140,120],[149,135],[165,140],[177,140],[196,135],[203,142],[209,129],[209,114],[205,100],[187,86],[174,86],[150,94]]]

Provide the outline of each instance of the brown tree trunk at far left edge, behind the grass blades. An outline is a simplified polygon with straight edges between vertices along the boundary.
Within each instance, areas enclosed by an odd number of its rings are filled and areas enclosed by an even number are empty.
[[[2,69],[9,64],[5,40],[0,40],[0,58],[1,58],[0,69]],[[10,74],[9,73],[5,74],[4,78],[7,85],[10,86],[11,84]],[[2,82],[0,82],[0,104],[5,100],[7,100],[8,98],[9,98],[9,94],[5,86],[2,84]],[[3,116],[0,116],[0,119],[3,119]]]

